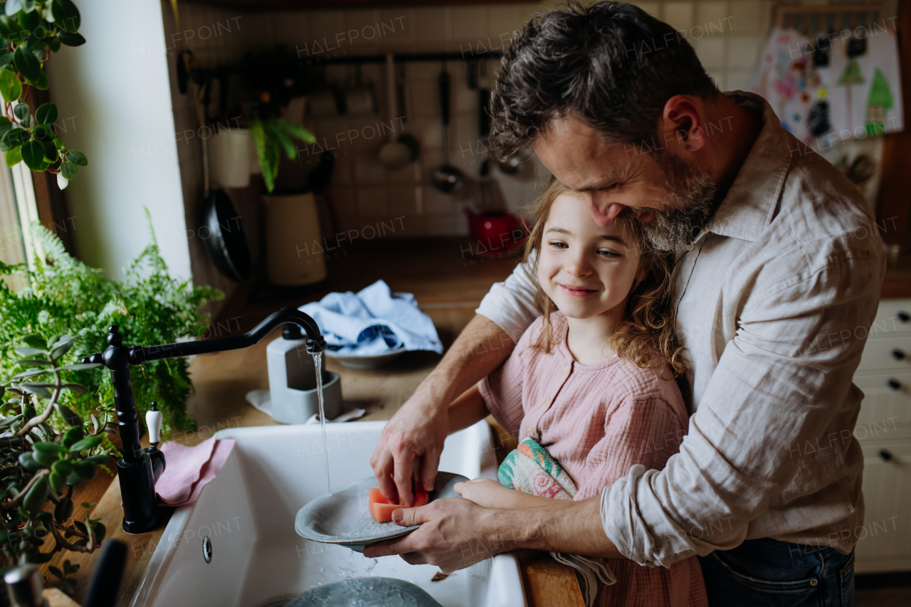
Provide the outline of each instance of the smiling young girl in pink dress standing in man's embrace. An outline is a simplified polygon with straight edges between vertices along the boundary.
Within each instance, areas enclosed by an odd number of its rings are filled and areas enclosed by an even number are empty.
[[[535,214],[526,259],[535,259],[542,316],[504,365],[449,409],[452,432],[489,412],[521,443],[500,479],[522,491],[484,478],[455,486],[487,507],[597,496],[631,466],[664,468],[688,424],[675,382],[684,363],[668,293],[669,256],[643,246],[641,224],[631,214],[599,227],[582,195],[556,180]],[[522,486],[516,462],[523,449],[549,478]],[[529,486],[535,484],[538,489]],[[670,569],[606,562],[617,582],[592,584],[595,604],[708,604],[695,557]]]

